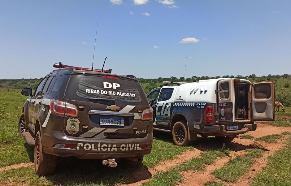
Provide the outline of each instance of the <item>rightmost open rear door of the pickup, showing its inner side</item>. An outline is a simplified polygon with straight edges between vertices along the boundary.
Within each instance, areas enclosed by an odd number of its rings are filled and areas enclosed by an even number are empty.
[[[252,87],[252,120],[275,120],[275,88],[274,81],[253,83]]]

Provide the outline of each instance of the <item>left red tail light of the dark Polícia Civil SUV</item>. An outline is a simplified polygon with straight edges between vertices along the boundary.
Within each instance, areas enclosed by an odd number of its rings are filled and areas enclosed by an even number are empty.
[[[50,100],[50,111],[54,114],[77,117],[78,110],[73,104],[62,102],[58,100]]]

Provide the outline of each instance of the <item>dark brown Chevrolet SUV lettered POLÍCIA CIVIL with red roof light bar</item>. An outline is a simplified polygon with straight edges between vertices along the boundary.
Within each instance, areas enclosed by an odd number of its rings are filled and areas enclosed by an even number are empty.
[[[139,166],[150,154],[153,110],[138,80],[108,70],[54,64],[29,96],[18,131],[34,146],[38,175],[54,172],[57,156],[101,159],[116,167],[115,158]],[[66,68],[63,68],[66,67]]]

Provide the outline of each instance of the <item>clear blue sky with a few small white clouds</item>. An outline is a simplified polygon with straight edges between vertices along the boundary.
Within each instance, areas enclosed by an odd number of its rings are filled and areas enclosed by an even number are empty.
[[[0,79],[53,63],[143,78],[291,73],[291,1],[0,2]],[[186,39],[188,38],[188,39]],[[183,40],[184,39],[184,40]],[[155,47],[156,46],[156,47]]]

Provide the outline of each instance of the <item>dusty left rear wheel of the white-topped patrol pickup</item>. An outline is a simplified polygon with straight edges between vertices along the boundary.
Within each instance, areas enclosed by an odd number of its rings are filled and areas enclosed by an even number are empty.
[[[187,123],[185,121],[177,121],[172,129],[173,141],[178,146],[191,145],[193,141],[188,139]]]

